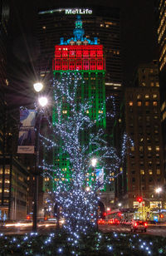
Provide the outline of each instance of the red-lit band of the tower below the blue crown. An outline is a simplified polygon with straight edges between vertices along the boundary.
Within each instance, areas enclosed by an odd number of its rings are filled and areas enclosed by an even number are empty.
[[[56,46],[53,71],[104,71],[103,46],[83,43]]]

